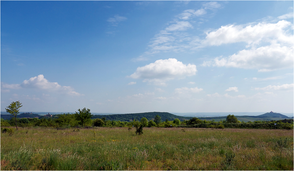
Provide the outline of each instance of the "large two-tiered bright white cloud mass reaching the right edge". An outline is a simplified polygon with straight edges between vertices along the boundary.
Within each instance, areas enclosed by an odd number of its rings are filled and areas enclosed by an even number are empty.
[[[245,42],[250,49],[240,50],[228,57],[216,57],[204,61],[202,66],[234,67],[257,69],[267,72],[281,68],[293,68],[293,24],[282,20],[277,23],[260,22],[258,24],[226,25],[216,31],[207,32],[202,45],[219,46],[223,44]],[[270,45],[260,46],[261,43]]]

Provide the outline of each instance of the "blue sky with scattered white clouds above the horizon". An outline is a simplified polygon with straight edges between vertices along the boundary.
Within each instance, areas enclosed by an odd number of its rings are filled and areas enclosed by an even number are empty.
[[[293,1],[1,1],[1,111],[293,113]]]

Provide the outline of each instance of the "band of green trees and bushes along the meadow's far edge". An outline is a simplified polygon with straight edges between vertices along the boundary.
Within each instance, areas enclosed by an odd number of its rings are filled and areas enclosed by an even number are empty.
[[[254,121],[254,122],[240,122],[234,115],[228,115],[225,120],[221,121],[206,121],[193,117],[189,120],[180,121],[176,118],[173,120],[166,119],[162,121],[161,116],[156,115],[154,119],[133,118],[132,121],[114,121],[110,119],[96,118],[87,119],[81,124],[80,120],[76,118],[75,114],[59,114],[48,118],[16,118],[16,122],[20,127],[56,127],[56,128],[70,128],[70,127],[133,127],[134,125],[142,125],[142,127],[183,127],[183,128],[247,128],[247,129],[293,129],[293,119],[284,119],[279,121]],[[83,125],[83,126],[82,126]],[[10,120],[1,119],[2,126],[15,126],[14,118]]]

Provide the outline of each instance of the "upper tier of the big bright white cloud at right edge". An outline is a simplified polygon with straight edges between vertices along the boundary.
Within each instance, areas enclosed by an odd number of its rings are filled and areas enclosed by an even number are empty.
[[[248,45],[265,42],[282,42],[293,45],[293,35],[288,34],[291,22],[282,20],[277,23],[261,22],[256,25],[226,25],[216,31],[206,32],[204,45],[219,46],[222,44],[246,42]]]

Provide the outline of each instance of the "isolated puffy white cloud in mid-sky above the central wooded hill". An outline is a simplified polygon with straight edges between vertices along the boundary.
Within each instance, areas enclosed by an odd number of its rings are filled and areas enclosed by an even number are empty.
[[[156,85],[166,85],[165,82],[175,78],[181,79],[186,76],[195,75],[196,65],[185,65],[174,58],[156,60],[143,67],[138,67],[130,78],[143,79],[143,82],[154,83]]]

